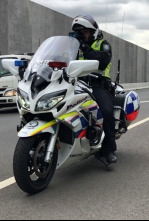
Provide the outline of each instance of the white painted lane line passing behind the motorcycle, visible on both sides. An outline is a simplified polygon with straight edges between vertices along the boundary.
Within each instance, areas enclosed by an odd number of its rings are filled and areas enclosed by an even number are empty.
[[[144,124],[144,123],[146,123],[146,122],[148,122],[148,121],[149,121],[149,117],[146,118],[146,119],[144,119],[144,120],[141,120],[141,121],[139,121],[139,122],[137,122],[137,123],[135,123],[135,124],[132,124],[131,126],[129,126],[128,130],[131,130],[131,129],[135,128],[135,127],[138,127],[138,126],[140,126],[141,124]],[[16,182],[16,181],[15,181],[15,178],[14,178],[14,177],[11,177],[11,178],[9,178],[9,179],[7,179],[7,180],[4,180],[3,182],[0,182],[0,190],[2,190],[2,189],[4,189],[4,188],[6,188],[6,187],[8,187],[8,186],[10,186],[10,185],[12,185],[12,184],[14,184],[15,182]]]

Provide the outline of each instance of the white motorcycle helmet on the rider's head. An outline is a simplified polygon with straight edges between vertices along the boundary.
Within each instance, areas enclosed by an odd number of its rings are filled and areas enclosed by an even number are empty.
[[[79,32],[80,30],[88,28],[92,30],[93,41],[101,37],[101,31],[99,30],[98,24],[90,15],[79,15],[75,17],[72,22],[72,30]]]

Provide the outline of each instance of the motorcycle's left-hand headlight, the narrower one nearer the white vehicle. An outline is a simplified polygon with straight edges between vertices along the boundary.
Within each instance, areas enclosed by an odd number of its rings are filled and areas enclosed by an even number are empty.
[[[23,109],[30,110],[30,102],[28,94],[20,89],[18,89],[17,94],[18,94],[18,102],[21,105],[21,107]]]

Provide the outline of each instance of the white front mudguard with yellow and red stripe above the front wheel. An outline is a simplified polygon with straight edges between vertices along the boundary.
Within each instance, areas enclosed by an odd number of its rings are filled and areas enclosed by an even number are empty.
[[[31,137],[40,133],[55,134],[57,122],[55,120],[46,122],[41,120],[33,120],[26,124],[18,133],[19,137]]]

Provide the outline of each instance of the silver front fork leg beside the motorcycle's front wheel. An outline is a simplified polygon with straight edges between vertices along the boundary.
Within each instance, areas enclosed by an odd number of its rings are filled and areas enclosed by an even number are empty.
[[[49,141],[47,153],[46,153],[45,160],[44,160],[46,163],[49,163],[52,159],[59,129],[60,129],[60,123],[57,124],[56,133],[51,135],[51,139]]]

